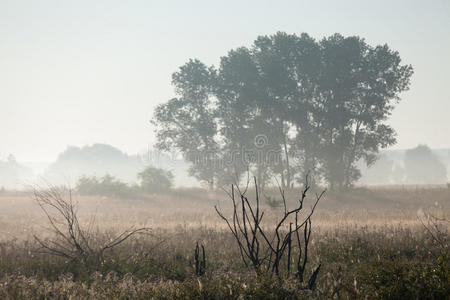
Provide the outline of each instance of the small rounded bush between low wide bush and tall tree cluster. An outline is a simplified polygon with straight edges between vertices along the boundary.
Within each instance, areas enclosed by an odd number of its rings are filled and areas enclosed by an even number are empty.
[[[146,193],[161,193],[170,190],[173,184],[173,174],[164,169],[147,167],[138,174],[140,186]]]

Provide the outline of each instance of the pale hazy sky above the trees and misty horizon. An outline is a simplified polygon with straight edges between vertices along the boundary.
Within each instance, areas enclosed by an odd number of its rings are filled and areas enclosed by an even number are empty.
[[[0,0],[0,158],[53,161],[95,142],[137,153],[189,58],[217,64],[262,34],[360,35],[415,74],[394,148],[450,147],[450,1]]]

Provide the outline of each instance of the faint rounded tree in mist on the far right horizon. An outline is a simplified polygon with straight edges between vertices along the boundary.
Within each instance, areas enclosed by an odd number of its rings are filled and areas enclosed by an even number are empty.
[[[445,183],[447,170],[426,145],[405,152],[406,179],[409,183]]]

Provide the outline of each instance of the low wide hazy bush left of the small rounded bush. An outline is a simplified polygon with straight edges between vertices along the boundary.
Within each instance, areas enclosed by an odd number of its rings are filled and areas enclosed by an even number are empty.
[[[80,195],[128,198],[136,195],[136,189],[110,175],[97,178],[82,176],[75,187]]]

